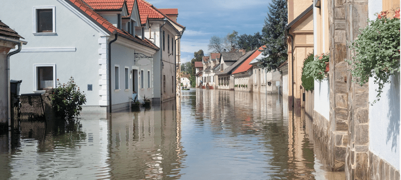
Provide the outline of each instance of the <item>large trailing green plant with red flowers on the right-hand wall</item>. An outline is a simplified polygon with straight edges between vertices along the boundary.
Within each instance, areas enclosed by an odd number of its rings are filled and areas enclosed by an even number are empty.
[[[384,84],[390,82],[389,76],[400,71],[400,19],[387,18],[387,11],[376,13],[374,20],[367,19],[368,25],[360,29],[357,39],[348,46],[355,53],[350,64],[352,81],[363,85],[369,77],[378,84],[374,102],[380,99]],[[396,11],[397,14],[397,11]]]

